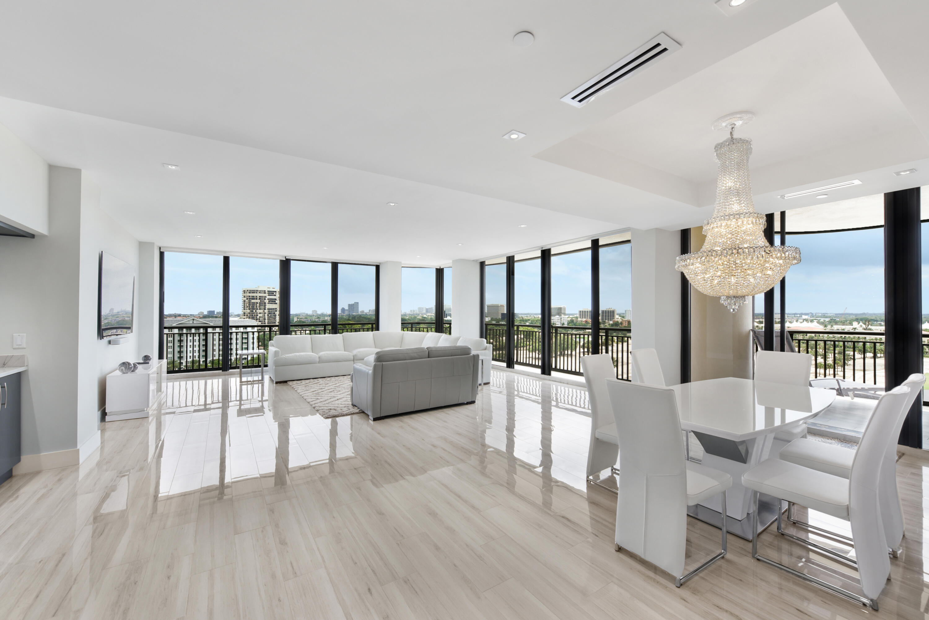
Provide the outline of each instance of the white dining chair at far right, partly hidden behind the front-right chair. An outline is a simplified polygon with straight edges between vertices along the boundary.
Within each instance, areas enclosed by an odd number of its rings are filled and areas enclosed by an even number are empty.
[[[907,394],[903,409],[900,410],[900,415],[893,421],[893,430],[890,432],[890,441],[887,442],[883,455],[883,465],[881,466],[881,521],[887,538],[887,547],[890,548],[895,558],[900,555],[903,536],[906,533],[903,522],[903,509],[900,507],[900,495],[896,488],[896,442],[900,437],[900,430],[903,429],[907,414],[909,414],[909,408],[922,394],[922,386],[925,384],[925,380],[925,375],[914,373],[903,382],[903,387],[909,389],[909,394]],[[780,459],[847,479],[851,476],[855,452],[855,450],[849,450],[831,443],[798,439],[789,443],[787,447],[780,451]],[[787,518],[788,521],[805,529],[850,541],[848,536],[843,534],[823,530],[811,525],[809,522],[794,519],[792,505],[788,505]]]

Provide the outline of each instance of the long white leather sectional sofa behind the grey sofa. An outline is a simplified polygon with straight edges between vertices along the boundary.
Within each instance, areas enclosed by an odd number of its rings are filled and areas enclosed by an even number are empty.
[[[351,375],[352,366],[379,350],[470,347],[480,358],[480,382],[491,382],[493,346],[484,338],[436,332],[347,332],[324,336],[277,336],[268,343],[268,375],[274,381]]]

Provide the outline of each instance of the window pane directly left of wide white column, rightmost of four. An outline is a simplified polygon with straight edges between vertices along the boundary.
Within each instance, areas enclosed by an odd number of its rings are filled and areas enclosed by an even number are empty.
[[[629,378],[632,347],[633,245],[625,239],[600,244],[600,347],[616,365],[616,376]],[[593,320],[593,317],[592,317]]]

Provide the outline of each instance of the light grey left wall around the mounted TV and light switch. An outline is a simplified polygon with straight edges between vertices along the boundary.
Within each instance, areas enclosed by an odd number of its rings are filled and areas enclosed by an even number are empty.
[[[0,354],[29,359],[22,454],[59,453],[51,462],[61,467],[97,447],[104,377],[137,360],[135,335],[120,346],[98,340],[97,288],[99,252],[137,268],[138,243],[100,210],[99,189],[80,170],[50,166],[47,192],[47,235],[0,237],[0,281],[10,292],[0,304]],[[12,349],[14,333],[26,334],[25,350]],[[23,458],[16,472],[35,463]]]

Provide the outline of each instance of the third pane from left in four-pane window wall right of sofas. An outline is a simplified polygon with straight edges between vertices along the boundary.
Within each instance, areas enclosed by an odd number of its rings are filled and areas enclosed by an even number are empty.
[[[552,250],[552,371],[579,373],[590,351],[590,242]]]

